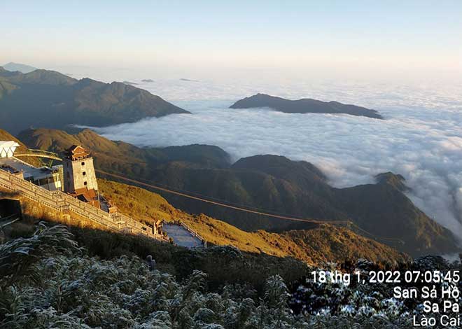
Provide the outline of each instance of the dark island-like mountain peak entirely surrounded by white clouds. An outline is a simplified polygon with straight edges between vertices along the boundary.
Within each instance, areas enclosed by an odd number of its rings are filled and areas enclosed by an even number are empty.
[[[345,113],[351,116],[366,116],[368,118],[383,119],[375,110],[366,109],[356,105],[339,102],[322,102],[316,99],[283,99],[268,94],[255,94],[241,99],[230,106],[230,109],[253,109],[268,107],[275,111],[285,113]]]

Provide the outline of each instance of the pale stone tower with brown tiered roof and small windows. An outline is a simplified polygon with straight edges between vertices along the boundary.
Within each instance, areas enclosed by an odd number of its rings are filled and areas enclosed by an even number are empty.
[[[98,191],[93,158],[82,146],[73,145],[66,150],[63,159],[64,192],[82,195],[89,191]]]

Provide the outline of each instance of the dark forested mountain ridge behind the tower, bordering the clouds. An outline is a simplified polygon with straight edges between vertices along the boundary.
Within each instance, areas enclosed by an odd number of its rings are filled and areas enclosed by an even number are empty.
[[[460,250],[449,230],[409,200],[404,193],[404,178],[393,173],[380,174],[374,184],[332,188],[309,162],[276,155],[255,155],[230,164],[227,153],[216,146],[137,148],[109,141],[90,130],[79,134],[27,130],[19,137],[30,148],[58,153],[69,145],[82,144],[92,151],[98,169],[215,201],[299,218],[353,221],[358,225],[353,227],[355,232],[411,255]],[[160,194],[174,207],[221,218],[241,230],[281,232],[313,227]]]

